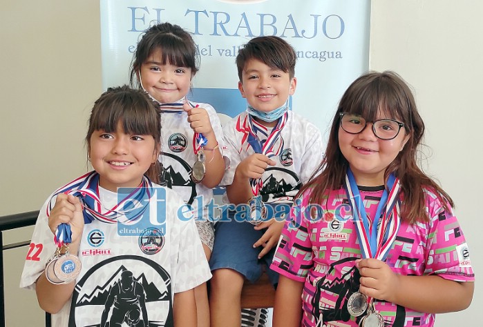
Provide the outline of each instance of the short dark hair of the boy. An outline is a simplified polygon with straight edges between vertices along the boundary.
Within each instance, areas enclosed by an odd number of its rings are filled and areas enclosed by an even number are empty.
[[[238,68],[240,81],[242,80],[243,68],[245,68],[247,61],[251,59],[260,60],[271,68],[288,72],[291,79],[295,76],[297,55],[294,48],[280,37],[255,37],[238,50],[236,68]]]

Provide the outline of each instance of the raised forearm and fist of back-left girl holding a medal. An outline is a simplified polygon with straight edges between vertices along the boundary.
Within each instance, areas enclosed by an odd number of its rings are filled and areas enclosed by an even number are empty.
[[[188,103],[184,103],[183,109],[188,113],[189,126],[193,132],[202,133],[208,140],[204,150],[206,172],[201,183],[207,188],[214,188],[218,186],[225,173],[225,160],[218,147],[208,112],[204,108],[191,108]]]

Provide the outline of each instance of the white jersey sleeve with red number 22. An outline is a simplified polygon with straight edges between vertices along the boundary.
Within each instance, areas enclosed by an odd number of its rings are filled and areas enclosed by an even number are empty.
[[[35,223],[20,279],[21,288],[35,289],[35,282],[44,273],[47,261],[54,255],[56,249],[54,235],[48,227],[47,204],[48,200],[42,206]]]

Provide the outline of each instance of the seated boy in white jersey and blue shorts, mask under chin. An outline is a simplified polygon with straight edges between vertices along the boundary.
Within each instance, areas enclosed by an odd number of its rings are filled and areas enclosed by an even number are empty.
[[[288,110],[296,88],[295,63],[294,49],[279,37],[256,37],[236,58],[238,88],[248,108],[223,128],[231,161],[220,185],[227,186],[231,204],[249,203],[254,216],[240,221],[235,212],[231,221],[216,224],[210,260],[214,327],[240,326],[243,282],[256,281],[263,264],[271,263],[283,213],[323,157],[319,130]],[[263,222],[253,221],[258,209],[267,212],[258,215]],[[276,285],[278,275],[268,268],[267,274]]]

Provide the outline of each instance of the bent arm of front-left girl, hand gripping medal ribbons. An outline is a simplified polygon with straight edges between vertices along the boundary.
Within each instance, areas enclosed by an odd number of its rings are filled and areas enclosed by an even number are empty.
[[[84,217],[82,215],[82,205],[79,199],[73,195],[57,195],[55,206],[50,212],[48,226],[55,234],[57,226],[61,223],[70,225],[72,231],[72,243],[69,251],[77,254],[79,251],[82,231],[84,230]],[[62,252],[65,252],[64,250]],[[75,282],[70,284],[55,285],[46,279],[45,272],[37,279],[35,291],[37,300],[42,310],[48,313],[57,313],[72,296]]]

